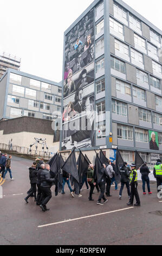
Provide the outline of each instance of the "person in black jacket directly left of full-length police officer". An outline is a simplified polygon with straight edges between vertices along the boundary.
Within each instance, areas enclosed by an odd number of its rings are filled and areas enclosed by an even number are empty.
[[[119,199],[122,198],[122,191],[125,185],[127,187],[128,198],[130,199],[131,191],[129,187],[129,170],[127,168],[127,162],[124,162],[124,165],[120,168],[120,176],[121,176],[121,188],[119,192]]]

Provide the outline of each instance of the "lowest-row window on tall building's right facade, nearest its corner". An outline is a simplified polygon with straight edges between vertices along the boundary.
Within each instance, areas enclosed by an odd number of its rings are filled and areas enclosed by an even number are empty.
[[[126,125],[117,125],[118,139],[127,139],[133,141],[133,127]]]

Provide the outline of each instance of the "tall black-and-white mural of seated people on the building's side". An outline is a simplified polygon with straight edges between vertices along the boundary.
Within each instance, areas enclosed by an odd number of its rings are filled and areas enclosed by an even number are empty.
[[[95,146],[94,11],[66,35],[62,150]]]

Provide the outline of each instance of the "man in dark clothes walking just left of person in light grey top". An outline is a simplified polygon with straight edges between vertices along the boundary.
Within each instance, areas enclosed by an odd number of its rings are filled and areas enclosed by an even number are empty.
[[[99,205],[103,205],[103,203],[107,202],[107,199],[105,198],[105,185],[106,185],[106,177],[108,176],[108,172],[107,172],[105,163],[103,163],[102,165],[103,167],[100,170],[102,174],[102,178],[101,178],[101,181],[99,182],[100,196],[97,202],[97,204]],[[103,199],[103,203],[101,202],[101,199]]]

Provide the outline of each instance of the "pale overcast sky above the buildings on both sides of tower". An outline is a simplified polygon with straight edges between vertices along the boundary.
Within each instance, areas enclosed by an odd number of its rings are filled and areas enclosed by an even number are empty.
[[[21,71],[62,80],[63,33],[93,0],[0,0],[0,51],[21,57]],[[162,31],[161,0],[125,0]]]

